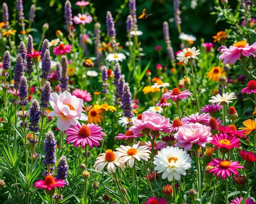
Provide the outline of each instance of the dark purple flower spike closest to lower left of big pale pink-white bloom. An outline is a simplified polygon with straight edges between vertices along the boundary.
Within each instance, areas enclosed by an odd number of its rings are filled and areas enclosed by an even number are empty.
[[[38,104],[37,99],[32,100],[32,105],[29,109],[29,130],[33,132],[37,132],[39,130],[38,123],[40,120],[40,114],[42,112],[40,111],[40,107]]]

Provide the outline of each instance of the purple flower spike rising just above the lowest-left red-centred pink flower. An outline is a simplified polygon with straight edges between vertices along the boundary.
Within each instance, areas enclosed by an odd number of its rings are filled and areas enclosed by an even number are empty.
[[[54,138],[54,134],[49,131],[45,137],[45,159],[43,163],[45,165],[51,165],[56,163],[55,147],[57,141]]]

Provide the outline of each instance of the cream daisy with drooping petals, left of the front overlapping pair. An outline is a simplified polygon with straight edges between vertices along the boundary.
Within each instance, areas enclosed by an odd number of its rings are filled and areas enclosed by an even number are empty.
[[[105,153],[101,153],[95,160],[94,168],[99,172],[104,169],[107,165],[107,172],[111,174],[111,172],[115,173],[116,166],[120,167],[123,171],[125,169],[124,161],[120,159],[115,152],[112,150],[106,150]]]

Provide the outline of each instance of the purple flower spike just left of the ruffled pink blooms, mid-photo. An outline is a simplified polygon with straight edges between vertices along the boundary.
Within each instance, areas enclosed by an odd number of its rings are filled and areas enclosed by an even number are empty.
[[[132,99],[131,99],[131,92],[129,88],[129,84],[125,83],[123,85],[123,96],[122,96],[122,109],[123,109],[123,116],[126,118],[133,117],[133,107],[132,107]]]

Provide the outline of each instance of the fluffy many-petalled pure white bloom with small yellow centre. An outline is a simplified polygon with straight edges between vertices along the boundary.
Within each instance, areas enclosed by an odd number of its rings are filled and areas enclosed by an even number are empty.
[[[166,147],[157,152],[154,157],[155,171],[162,173],[162,179],[168,181],[180,180],[181,175],[186,175],[187,169],[191,168],[191,158],[186,151],[179,147]]]

